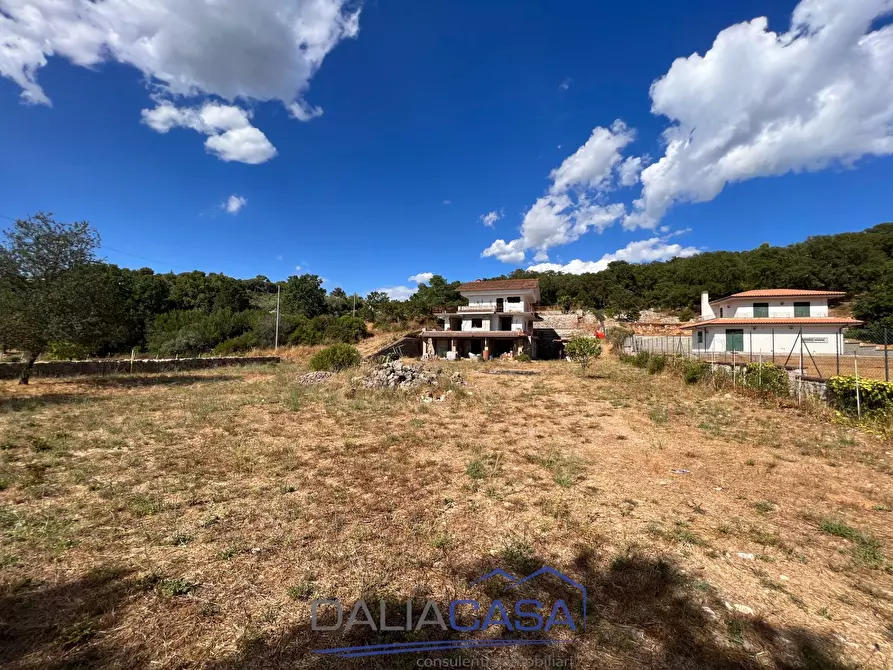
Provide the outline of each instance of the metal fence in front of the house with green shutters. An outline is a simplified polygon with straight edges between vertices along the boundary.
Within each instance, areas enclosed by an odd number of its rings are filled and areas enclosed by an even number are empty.
[[[792,346],[766,351],[706,351],[692,346],[689,335],[633,335],[624,342],[624,351],[635,354],[647,351],[662,356],[699,358],[713,363],[775,363],[790,370],[801,370],[805,377],[828,379],[835,375],[856,375],[890,381],[893,366],[893,329],[884,326],[851,329],[843,333],[842,342],[833,354],[819,353],[810,337],[798,333]]]

